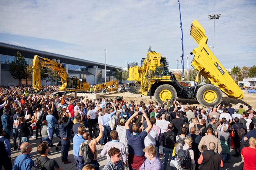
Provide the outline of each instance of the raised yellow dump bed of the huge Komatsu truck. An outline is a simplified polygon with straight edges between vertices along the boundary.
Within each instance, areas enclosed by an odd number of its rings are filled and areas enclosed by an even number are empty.
[[[205,30],[196,20],[192,22],[190,35],[199,46],[193,49],[194,59],[191,62],[191,65],[199,71],[198,76],[203,75],[228,97],[241,99],[243,92],[208,48]],[[205,96],[211,98],[214,95],[214,92],[209,91]]]

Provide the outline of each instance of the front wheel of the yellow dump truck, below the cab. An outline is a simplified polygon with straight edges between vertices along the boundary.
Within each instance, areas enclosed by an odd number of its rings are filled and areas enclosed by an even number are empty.
[[[164,103],[165,100],[168,100],[168,99],[170,99],[171,102],[173,99],[176,100],[177,92],[173,86],[171,86],[169,84],[163,84],[163,85],[157,87],[154,96],[155,96],[156,102],[161,104],[161,103]]]

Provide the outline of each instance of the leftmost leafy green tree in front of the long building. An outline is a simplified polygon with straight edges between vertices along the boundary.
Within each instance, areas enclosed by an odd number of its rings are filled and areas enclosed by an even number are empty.
[[[21,85],[22,79],[28,78],[28,65],[25,57],[22,56],[21,52],[18,51],[15,54],[15,60],[11,61],[9,71],[14,79],[19,80],[19,85]]]

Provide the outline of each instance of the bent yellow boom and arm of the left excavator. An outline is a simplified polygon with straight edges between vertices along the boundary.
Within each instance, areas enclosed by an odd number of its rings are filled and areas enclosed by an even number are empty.
[[[39,60],[39,58],[42,58],[43,60]],[[36,89],[36,91],[41,90],[41,66],[42,67],[48,67],[52,68],[54,71],[58,73],[61,77],[62,81],[62,89],[66,89],[66,83],[67,79],[69,78],[68,74],[66,73],[66,68],[62,67],[62,64],[58,63],[57,61],[53,61],[47,58],[39,57],[38,55],[34,56],[33,59],[33,87]]]

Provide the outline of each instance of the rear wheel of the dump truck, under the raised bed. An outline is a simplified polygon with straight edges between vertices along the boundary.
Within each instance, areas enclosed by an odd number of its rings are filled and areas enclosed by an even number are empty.
[[[222,92],[217,86],[206,84],[198,89],[196,99],[203,107],[209,108],[211,105],[217,107],[222,102]]]

